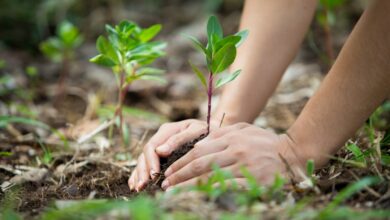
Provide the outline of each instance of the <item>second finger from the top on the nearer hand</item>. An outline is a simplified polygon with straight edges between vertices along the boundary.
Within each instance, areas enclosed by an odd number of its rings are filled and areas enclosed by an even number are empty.
[[[166,177],[161,186],[166,189],[169,186],[207,174],[212,171],[212,165],[214,164],[223,168],[233,165],[235,162],[236,158],[230,157],[227,151],[209,154],[190,162],[182,169]]]

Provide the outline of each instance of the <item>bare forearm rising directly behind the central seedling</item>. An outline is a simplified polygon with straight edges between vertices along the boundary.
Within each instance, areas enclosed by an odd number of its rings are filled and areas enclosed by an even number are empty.
[[[258,116],[299,49],[315,6],[315,0],[245,1],[240,29],[249,36],[231,68],[242,73],[224,89],[214,120],[223,113],[224,125]]]

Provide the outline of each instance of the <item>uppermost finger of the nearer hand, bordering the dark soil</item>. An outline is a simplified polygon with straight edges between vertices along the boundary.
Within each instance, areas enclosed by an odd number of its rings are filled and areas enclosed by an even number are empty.
[[[195,144],[195,147],[192,150],[190,150],[187,154],[185,154],[183,157],[175,161],[170,167],[168,167],[164,175],[168,177],[172,173],[175,173],[176,171],[186,166],[191,161],[194,161],[208,154],[221,152],[227,147],[228,142],[226,139],[203,141],[200,144]]]

